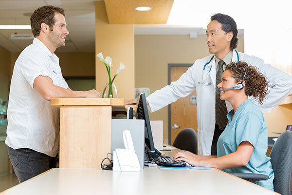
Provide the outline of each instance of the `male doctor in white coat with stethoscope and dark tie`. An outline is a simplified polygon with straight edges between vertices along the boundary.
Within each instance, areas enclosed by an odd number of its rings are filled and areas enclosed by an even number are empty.
[[[206,35],[211,55],[197,59],[181,78],[146,99],[150,112],[155,112],[197,90],[199,155],[217,155],[217,140],[227,124],[226,114],[232,110],[228,101],[220,100],[217,87],[226,64],[245,61],[268,78],[270,94],[262,105],[258,105],[265,112],[271,112],[292,92],[292,78],[270,64],[264,64],[262,59],[237,52],[237,24],[230,16],[212,16]]]

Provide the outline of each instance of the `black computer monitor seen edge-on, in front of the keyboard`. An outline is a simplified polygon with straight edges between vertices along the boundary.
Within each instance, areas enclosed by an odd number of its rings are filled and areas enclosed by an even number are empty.
[[[136,119],[145,120],[145,144],[149,148],[150,151],[152,152],[155,151],[145,93],[140,94],[137,100],[137,108],[136,108],[135,117]]]

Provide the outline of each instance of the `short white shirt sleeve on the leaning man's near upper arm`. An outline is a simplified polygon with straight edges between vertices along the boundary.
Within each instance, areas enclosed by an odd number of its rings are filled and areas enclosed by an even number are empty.
[[[40,75],[52,79],[49,60],[43,54],[39,54],[38,52],[34,53],[36,54],[24,57],[20,62],[22,75],[32,88],[34,88],[35,79]]]

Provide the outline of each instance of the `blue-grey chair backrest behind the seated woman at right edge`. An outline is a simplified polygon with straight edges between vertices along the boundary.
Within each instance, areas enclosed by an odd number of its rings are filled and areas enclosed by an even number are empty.
[[[291,195],[292,176],[292,132],[283,132],[274,143],[270,154],[274,170],[274,191]]]

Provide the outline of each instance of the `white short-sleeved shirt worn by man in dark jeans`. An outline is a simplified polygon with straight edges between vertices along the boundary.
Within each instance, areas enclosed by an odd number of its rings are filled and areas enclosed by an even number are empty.
[[[58,57],[35,38],[15,62],[5,143],[13,149],[29,148],[55,157],[59,149],[59,109],[51,107],[33,88],[40,75],[51,78],[57,86],[68,88]]]

